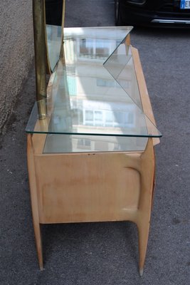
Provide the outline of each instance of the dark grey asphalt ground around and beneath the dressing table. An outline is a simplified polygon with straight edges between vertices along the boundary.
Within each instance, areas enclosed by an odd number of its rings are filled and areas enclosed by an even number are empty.
[[[66,25],[111,26],[113,14],[111,0],[70,0]],[[24,133],[35,100],[32,66],[1,138],[0,284],[189,284],[189,31],[135,28],[132,44],[139,48],[163,133],[144,276],[138,274],[137,229],[130,222],[43,227],[45,270],[38,270]]]

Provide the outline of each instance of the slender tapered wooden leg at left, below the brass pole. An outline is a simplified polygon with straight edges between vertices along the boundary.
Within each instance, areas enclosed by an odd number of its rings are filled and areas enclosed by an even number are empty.
[[[31,192],[31,209],[33,217],[33,229],[36,239],[36,249],[38,254],[38,262],[40,269],[43,270],[43,254],[42,254],[42,241],[41,241],[41,225],[39,223],[38,212],[38,195],[36,190],[36,172],[34,167],[34,154],[32,135],[27,135],[27,160],[28,160],[28,177]]]

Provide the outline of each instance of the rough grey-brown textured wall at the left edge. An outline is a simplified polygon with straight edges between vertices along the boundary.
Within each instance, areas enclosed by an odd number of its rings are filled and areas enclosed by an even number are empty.
[[[33,58],[32,1],[0,4],[0,134],[14,108]]]

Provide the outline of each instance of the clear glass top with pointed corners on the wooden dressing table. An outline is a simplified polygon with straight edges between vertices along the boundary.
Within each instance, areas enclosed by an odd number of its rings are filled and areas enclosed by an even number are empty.
[[[38,104],[44,101],[36,102],[26,132],[161,137],[142,109],[132,51],[125,41],[131,29],[64,28],[63,58],[48,84],[47,116],[38,119]]]

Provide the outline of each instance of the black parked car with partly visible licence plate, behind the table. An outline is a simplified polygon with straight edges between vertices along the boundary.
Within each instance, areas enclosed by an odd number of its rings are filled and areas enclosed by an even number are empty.
[[[115,24],[190,28],[190,0],[115,0]]]

